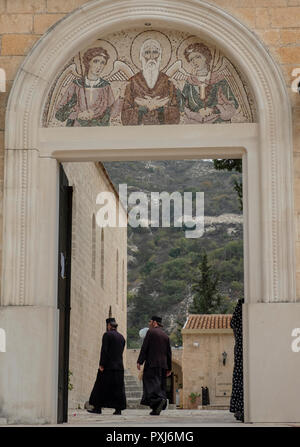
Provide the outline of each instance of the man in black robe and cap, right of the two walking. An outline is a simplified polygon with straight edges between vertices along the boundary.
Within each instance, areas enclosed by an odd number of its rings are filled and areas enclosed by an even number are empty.
[[[139,370],[145,362],[141,404],[148,405],[152,409],[150,414],[156,416],[167,406],[166,377],[172,369],[170,339],[162,330],[161,321],[161,317],[151,318],[137,361]]]

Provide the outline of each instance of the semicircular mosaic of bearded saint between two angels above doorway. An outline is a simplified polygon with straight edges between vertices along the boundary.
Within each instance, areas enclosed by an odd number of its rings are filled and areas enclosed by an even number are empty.
[[[184,33],[125,31],[98,39],[59,73],[45,127],[255,122],[233,64]]]

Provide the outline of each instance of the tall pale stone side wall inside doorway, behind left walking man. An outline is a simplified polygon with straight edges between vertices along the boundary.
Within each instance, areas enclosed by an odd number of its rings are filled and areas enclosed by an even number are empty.
[[[73,186],[69,365],[73,390],[69,392],[69,406],[82,408],[96,378],[110,306],[119,324],[118,330],[126,338],[127,229],[93,225],[93,215],[99,208],[97,194],[112,191],[96,163],[63,163],[63,167]],[[104,257],[101,256],[103,248]]]

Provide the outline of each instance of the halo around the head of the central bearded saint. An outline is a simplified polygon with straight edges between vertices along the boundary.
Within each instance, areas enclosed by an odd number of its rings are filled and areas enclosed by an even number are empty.
[[[142,64],[140,61],[140,49],[142,44],[147,39],[154,39],[157,40],[162,48],[162,54],[161,54],[161,70],[164,70],[171,60],[172,56],[172,45],[170,42],[170,39],[165,34],[161,33],[160,31],[155,30],[149,30],[149,31],[142,31],[140,34],[135,36],[135,38],[132,41],[131,47],[130,47],[130,57],[132,60],[133,65],[138,68],[138,70],[141,70]]]

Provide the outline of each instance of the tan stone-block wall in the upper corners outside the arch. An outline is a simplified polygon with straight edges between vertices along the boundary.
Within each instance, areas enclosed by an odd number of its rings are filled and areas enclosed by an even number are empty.
[[[49,27],[84,0],[0,0],[0,67],[6,70],[7,91],[0,93],[0,208],[2,194],[5,107],[12,82],[25,56]],[[300,297],[300,97],[290,89],[292,70],[300,67],[300,0],[210,0],[251,29],[282,70],[292,104],[294,191],[297,228],[297,296]],[[2,247],[1,247],[2,248]]]

